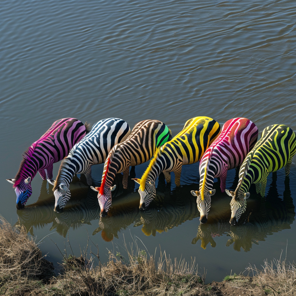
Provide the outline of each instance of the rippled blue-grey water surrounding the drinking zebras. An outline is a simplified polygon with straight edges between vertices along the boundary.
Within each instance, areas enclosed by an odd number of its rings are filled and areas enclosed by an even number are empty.
[[[218,184],[210,223],[199,227],[190,195],[198,187],[198,165],[184,167],[181,191],[173,183],[167,188],[160,182],[151,213],[138,212],[133,187],[127,197],[119,188],[114,215],[106,221],[99,219],[83,178],[71,185],[73,199],[61,215],[52,211],[52,187],[40,176],[32,181],[33,194],[23,212],[16,210],[15,192],[5,181],[17,173],[22,152],[59,118],[95,123],[119,117],[130,126],[158,119],[176,135],[195,116],[210,116],[219,123],[242,116],[259,131],[274,123],[296,130],[294,4],[1,1],[0,214],[12,224],[26,225],[55,264],[61,261],[57,247],[63,250],[70,242],[78,255],[88,236],[105,262],[108,250],[123,252],[123,240],[129,244],[135,236],[139,247],[151,254],[157,247],[158,255],[161,247],[171,257],[196,257],[199,271],[207,269],[207,281],[221,280],[231,270],[244,271],[249,263],[260,266],[266,258],[279,258],[281,250],[285,256],[286,247],[287,259],[295,260],[291,199],[295,204],[296,160],[289,182],[283,170],[276,181],[269,176],[265,212],[251,194],[249,222],[236,229],[227,222],[230,200],[219,194]],[[136,176],[146,167],[136,167]],[[57,163],[54,176],[58,168]],[[96,181],[102,169],[93,168]],[[235,170],[228,174],[228,189],[234,177]],[[79,209],[86,201],[90,210],[84,213]],[[105,241],[102,233],[113,240]]]

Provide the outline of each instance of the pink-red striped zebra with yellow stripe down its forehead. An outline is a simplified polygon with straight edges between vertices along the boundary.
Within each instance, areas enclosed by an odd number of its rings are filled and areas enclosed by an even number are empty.
[[[221,191],[225,192],[227,170],[242,164],[257,138],[258,128],[255,123],[247,118],[233,118],[224,123],[221,134],[205,151],[200,160],[200,189],[191,191],[197,197],[201,223],[207,223],[211,195],[216,191],[213,189],[214,178],[220,178]]]

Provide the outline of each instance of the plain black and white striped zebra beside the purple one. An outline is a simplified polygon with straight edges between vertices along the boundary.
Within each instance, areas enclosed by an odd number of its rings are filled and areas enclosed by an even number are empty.
[[[59,213],[70,199],[69,184],[75,174],[84,174],[92,185],[91,166],[103,163],[112,147],[131,133],[128,124],[119,118],[102,119],[94,124],[89,134],[77,143],[62,161],[54,183],[54,211]]]

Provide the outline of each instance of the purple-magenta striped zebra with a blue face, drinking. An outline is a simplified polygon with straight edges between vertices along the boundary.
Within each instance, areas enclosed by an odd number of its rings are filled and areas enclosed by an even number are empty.
[[[72,147],[90,130],[89,125],[75,118],[63,118],[55,121],[46,133],[34,142],[23,155],[20,168],[14,179],[7,179],[13,184],[17,194],[18,210],[32,194],[31,181],[39,172],[43,180],[54,183],[53,163],[62,160]]]

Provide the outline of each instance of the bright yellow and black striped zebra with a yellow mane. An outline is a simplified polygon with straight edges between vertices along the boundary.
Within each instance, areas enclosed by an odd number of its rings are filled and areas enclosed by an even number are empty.
[[[140,210],[145,210],[155,198],[155,180],[159,174],[163,172],[167,183],[170,183],[169,172],[174,172],[175,184],[180,186],[182,165],[199,161],[219,131],[220,125],[216,120],[194,117],[185,123],[182,131],[171,141],[157,149],[142,178],[134,179],[140,184]]]

